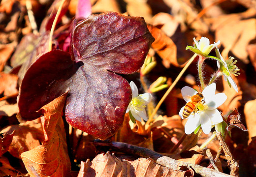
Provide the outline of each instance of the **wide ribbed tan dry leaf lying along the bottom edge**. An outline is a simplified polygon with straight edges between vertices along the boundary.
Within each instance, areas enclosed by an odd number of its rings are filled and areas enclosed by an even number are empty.
[[[150,158],[121,161],[110,152],[97,155],[92,161],[91,168],[95,170],[95,177],[184,177],[186,173],[162,167]],[[87,170],[81,177],[92,177],[92,169]]]

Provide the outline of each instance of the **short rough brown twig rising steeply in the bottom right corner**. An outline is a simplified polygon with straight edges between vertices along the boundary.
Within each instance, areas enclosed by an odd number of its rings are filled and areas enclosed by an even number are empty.
[[[235,159],[234,159],[233,155],[231,154],[229,148],[225,144],[224,139],[223,139],[220,132],[217,132],[217,138],[218,138],[218,140],[220,142],[220,146],[223,148],[225,156],[227,158],[227,163],[230,167],[230,175],[232,175],[234,177],[239,177],[239,175],[238,175],[239,165],[235,161]]]

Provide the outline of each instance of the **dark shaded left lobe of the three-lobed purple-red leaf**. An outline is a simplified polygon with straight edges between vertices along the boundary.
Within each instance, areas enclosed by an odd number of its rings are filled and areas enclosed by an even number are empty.
[[[21,120],[39,118],[40,108],[66,91],[69,78],[76,70],[67,52],[53,50],[37,59],[25,74],[18,96]]]

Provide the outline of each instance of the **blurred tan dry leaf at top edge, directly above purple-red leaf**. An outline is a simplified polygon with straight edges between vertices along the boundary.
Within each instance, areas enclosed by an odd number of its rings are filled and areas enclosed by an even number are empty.
[[[92,1],[95,0],[91,0],[91,3]],[[96,0],[96,4],[92,6],[92,13],[100,13],[107,11],[121,12],[116,0]]]

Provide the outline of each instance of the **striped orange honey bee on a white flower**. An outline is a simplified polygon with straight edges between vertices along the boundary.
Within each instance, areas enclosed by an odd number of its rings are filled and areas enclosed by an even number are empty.
[[[182,112],[182,116],[183,118],[188,118],[191,113],[195,113],[196,111],[198,111],[198,104],[200,104],[201,102],[204,102],[203,99],[203,94],[201,92],[197,92],[195,95],[193,95],[191,97],[191,101],[188,102],[185,107],[184,110]]]

